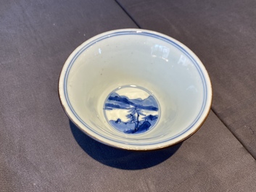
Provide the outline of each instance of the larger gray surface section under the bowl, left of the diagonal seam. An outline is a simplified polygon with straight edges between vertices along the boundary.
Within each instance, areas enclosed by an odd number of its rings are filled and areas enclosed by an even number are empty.
[[[182,144],[149,152],[104,146],[68,120],[65,59],[136,27],[115,1],[1,1],[0,18],[0,191],[255,191],[255,159],[212,112]]]

